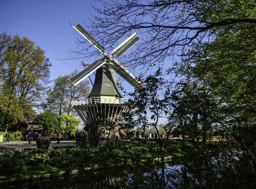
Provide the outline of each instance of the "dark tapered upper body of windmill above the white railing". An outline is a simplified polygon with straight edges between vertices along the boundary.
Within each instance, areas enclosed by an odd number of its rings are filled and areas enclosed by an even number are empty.
[[[122,96],[116,82],[116,72],[108,67],[100,67],[96,70],[91,96]]]

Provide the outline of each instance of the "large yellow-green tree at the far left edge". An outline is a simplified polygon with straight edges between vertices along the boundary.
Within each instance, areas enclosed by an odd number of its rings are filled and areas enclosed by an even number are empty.
[[[0,109],[7,123],[15,124],[18,130],[24,117],[35,115],[33,107],[46,90],[51,64],[39,46],[17,35],[5,48],[3,56]]]

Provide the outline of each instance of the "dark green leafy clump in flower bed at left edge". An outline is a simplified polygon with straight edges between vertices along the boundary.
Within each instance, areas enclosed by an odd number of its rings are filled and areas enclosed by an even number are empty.
[[[0,170],[2,172],[26,172],[26,157],[23,149],[6,150],[0,157]]]

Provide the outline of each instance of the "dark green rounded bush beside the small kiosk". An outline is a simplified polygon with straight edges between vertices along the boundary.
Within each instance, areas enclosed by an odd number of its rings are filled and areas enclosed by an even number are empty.
[[[53,133],[57,133],[60,129],[58,115],[49,111],[45,111],[44,113],[39,114],[35,118],[34,123],[45,125],[47,130],[52,130]]]

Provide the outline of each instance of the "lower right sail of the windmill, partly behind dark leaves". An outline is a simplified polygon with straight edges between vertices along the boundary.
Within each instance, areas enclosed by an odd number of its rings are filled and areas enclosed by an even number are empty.
[[[111,67],[118,73],[122,78],[124,78],[128,83],[130,83],[134,88],[139,88],[142,86],[142,83],[134,77],[131,72],[129,72],[127,69],[125,69],[124,66],[122,66],[119,62],[117,62],[116,59],[113,59],[113,64]]]

